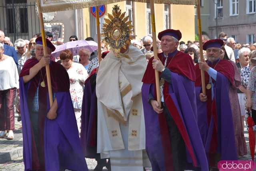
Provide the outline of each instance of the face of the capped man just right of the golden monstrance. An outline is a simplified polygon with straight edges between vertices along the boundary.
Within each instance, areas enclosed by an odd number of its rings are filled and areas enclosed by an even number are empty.
[[[178,48],[179,42],[175,42],[172,36],[162,36],[161,48],[164,54],[169,54]]]

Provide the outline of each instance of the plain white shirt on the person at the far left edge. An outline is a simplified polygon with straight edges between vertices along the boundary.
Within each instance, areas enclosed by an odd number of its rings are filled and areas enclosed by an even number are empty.
[[[19,88],[19,74],[12,57],[0,61],[0,90]]]

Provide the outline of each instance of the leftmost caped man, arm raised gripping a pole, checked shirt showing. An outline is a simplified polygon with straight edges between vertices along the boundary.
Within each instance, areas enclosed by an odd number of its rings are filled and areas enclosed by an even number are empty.
[[[20,72],[20,110],[22,115],[23,153],[28,170],[87,170],[80,146],[76,118],[65,68],[50,61],[55,50],[46,39],[36,39],[36,58],[26,61]],[[54,102],[49,105],[45,66],[49,64]]]

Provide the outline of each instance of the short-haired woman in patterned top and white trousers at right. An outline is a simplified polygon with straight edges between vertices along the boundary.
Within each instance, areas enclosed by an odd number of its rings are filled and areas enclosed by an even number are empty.
[[[240,109],[241,109],[241,115],[242,115],[242,121],[244,121],[244,117],[245,117],[245,93],[246,93],[246,87],[245,87],[245,80],[246,78],[246,72],[241,73],[242,69],[249,66],[249,53],[250,53],[250,49],[248,48],[241,48],[238,51],[238,58],[239,58],[239,62],[236,63],[236,66],[240,72],[240,76],[241,76],[241,85],[239,87],[239,89],[237,89],[237,94],[238,94],[238,100],[239,100],[239,105],[240,105]],[[249,75],[248,75],[249,76]],[[247,83],[246,83],[247,85]],[[244,128],[244,124],[243,124],[243,128]]]

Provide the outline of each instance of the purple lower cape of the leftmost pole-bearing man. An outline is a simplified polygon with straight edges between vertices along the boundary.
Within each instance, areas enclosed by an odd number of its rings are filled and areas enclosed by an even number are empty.
[[[23,160],[25,171],[32,170],[32,126],[28,109],[28,89],[20,77],[20,109],[22,117]],[[79,141],[76,118],[69,92],[56,93],[58,102],[57,118],[44,122],[45,170],[69,169],[88,171]],[[47,97],[48,109],[49,98]]]

